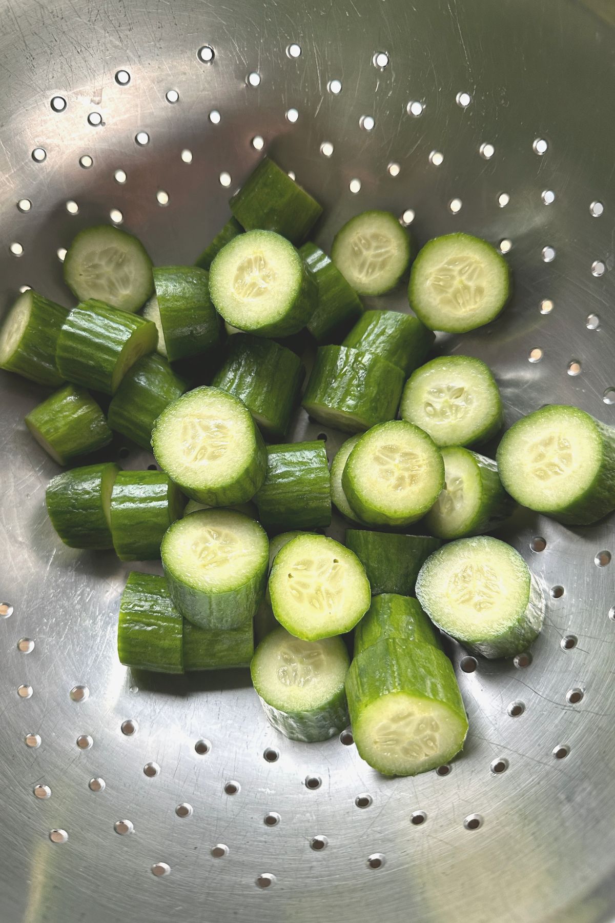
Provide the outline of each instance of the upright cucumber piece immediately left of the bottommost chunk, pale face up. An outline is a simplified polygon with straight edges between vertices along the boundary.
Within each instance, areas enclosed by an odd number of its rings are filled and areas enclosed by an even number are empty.
[[[349,723],[344,680],[349,655],[341,638],[300,641],[271,631],[250,672],[267,720],[291,740],[328,740]]]

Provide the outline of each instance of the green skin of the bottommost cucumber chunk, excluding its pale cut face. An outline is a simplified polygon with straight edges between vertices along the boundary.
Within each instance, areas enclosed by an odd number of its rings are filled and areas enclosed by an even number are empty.
[[[401,641],[397,638],[385,638],[366,648],[354,658],[346,677],[352,735],[361,758],[366,758],[364,745],[367,741],[361,727],[361,716],[365,708],[373,701],[396,692],[441,703],[459,724],[458,743],[448,752],[434,754],[432,761],[426,762],[420,772],[428,772],[451,761],[463,748],[467,735],[467,715],[453,665],[432,644]],[[416,770],[391,773],[382,763],[376,764],[376,761],[370,765],[383,775],[416,774]]]

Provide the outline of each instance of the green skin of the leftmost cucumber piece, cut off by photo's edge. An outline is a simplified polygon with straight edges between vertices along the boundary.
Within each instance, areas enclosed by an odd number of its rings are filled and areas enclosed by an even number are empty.
[[[1,364],[7,372],[30,378],[39,385],[57,388],[65,380],[55,363],[55,350],[62,325],[68,315],[65,307],[43,298],[38,292],[25,292],[18,298],[30,302],[30,316],[12,354]],[[17,302],[15,303],[17,305]],[[11,310],[5,318],[9,321]],[[0,330],[2,340],[2,330]]]

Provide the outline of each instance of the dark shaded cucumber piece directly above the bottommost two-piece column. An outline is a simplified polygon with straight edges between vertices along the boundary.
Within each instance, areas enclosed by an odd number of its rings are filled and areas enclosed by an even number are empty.
[[[419,571],[442,542],[431,535],[346,530],[346,546],[361,561],[373,595],[412,596]]]

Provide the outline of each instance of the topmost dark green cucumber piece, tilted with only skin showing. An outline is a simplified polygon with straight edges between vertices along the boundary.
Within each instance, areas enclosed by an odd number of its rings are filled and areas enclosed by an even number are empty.
[[[268,157],[248,176],[230,204],[246,231],[276,231],[293,244],[305,240],[323,211],[315,198]]]

